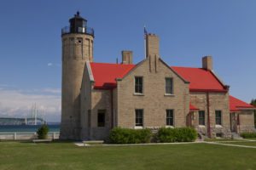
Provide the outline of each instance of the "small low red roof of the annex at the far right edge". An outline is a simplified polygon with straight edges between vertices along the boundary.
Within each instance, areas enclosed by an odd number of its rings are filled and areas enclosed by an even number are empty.
[[[249,105],[240,99],[236,99],[235,97],[230,95],[230,111],[240,111],[240,109],[253,109],[255,108],[253,105]],[[256,108],[255,108],[256,109]]]

